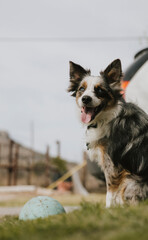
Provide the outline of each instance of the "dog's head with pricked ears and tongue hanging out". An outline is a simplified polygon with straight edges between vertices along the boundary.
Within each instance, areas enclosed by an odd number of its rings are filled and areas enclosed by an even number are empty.
[[[90,123],[102,111],[112,108],[121,98],[122,69],[119,59],[113,61],[100,76],[92,76],[90,70],[70,62],[69,92],[76,97],[81,109],[81,121]]]

